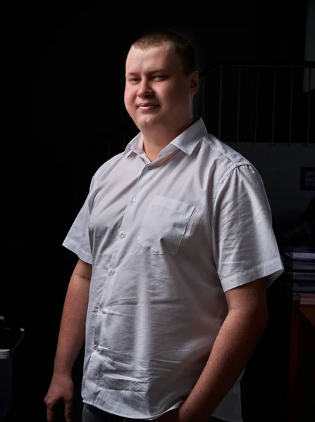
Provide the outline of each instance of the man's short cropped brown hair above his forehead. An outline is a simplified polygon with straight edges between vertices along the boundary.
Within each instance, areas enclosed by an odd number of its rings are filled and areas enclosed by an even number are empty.
[[[132,46],[137,49],[147,50],[170,42],[183,64],[185,75],[196,70],[196,54],[192,43],[182,34],[171,30],[156,30],[142,35]],[[130,47],[130,49],[132,48]],[[130,51],[130,50],[129,50]]]

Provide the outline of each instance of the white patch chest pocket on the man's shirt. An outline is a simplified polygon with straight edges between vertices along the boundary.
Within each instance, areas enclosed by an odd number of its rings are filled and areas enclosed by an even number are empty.
[[[154,196],[144,214],[137,242],[152,254],[175,255],[187,229],[194,206]]]

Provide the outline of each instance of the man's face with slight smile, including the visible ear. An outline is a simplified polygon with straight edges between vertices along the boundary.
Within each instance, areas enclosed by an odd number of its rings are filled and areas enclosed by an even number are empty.
[[[171,44],[147,50],[132,47],[126,60],[125,107],[142,132],[173,131],[192,119],[198,75],[185,75]]]

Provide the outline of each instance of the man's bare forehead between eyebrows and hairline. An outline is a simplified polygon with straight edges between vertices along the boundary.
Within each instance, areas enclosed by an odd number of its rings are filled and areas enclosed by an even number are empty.
[[[173,46],[165,42],[149,49],[138,49],[132,46],[125,67],[126,73],[149,72],[155,68],[178,70],[181,68],[181,61]]]

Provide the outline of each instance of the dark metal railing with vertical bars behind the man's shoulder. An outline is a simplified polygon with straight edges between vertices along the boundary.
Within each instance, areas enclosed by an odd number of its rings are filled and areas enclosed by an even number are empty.
[[[315,144],[315,63],[218,65],[201,75],[201,115],[221,141]]]

